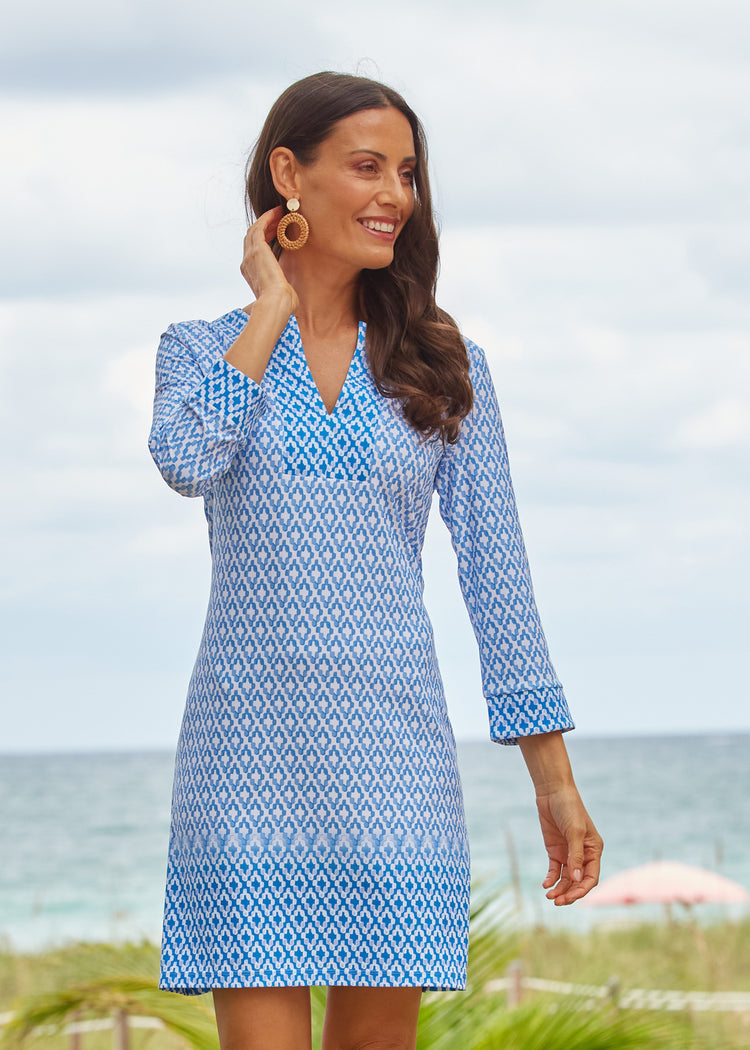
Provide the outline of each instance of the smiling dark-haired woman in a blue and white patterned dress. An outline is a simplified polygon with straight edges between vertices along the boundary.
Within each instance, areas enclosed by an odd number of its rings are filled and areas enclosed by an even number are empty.
[[[569,904],[601,840],[576,790],[482,351],[435,304],[419,121],[318,74],[247,180],[252,307],[171,326],[151,454],[203,496],[209,608],[180,736],[161,987],[212,989],[223,1050],[414,1046],[465,987],[470,857],[422,603],[433,492],[479,642],[491,735],[520,742]],[[285,207],[286,206],[286,207]],[[289,216],[289,217],[287,217]]]

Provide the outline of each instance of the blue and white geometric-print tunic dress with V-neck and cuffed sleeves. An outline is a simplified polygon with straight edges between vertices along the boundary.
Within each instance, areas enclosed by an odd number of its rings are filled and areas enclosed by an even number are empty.
[[[170,326],[149,449],[203,497],[212,578],[172,794],[160,987],[464,988],[470,850],[422,601],[433,494],[479,644],[491,737],[572,728],[540,626],[483,352],[456,444],[372,377],[329,415],[296,318],[262,382],[247,322]]]

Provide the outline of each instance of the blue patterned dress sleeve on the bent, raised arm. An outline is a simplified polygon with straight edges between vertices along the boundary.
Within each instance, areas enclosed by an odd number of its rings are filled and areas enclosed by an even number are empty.
[[[264,411],[259,384],[225,361],[223,352],[207,321],[170,324],[159,343],[148,448],[181,496],[208,491]]]

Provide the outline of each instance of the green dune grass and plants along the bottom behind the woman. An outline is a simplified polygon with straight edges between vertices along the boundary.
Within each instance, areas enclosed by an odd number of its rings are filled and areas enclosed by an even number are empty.
[[[595,928],[587,934],[514,930],[489,891],[475,897],[467,987],[426,992],[418,1050],[750,1050],[750,1017],[743,1014],[665,1014],[581,1009],[559,996],[529,995],[508,1009],[488,981],[512,960],[524,973],[623,989],[750,990],[750,921],[695,928],[688,924]],[[60,1028],[74,1014],[112,1009],[162,1018],[161,1030],[131,1030],[131,1050],[217,1050],[210,995],[178,996],[157,987],[159,949],[141,944],[69,944],[34,954],[0,950],[0,1012],[16,1011],[7,1048],[33,1042],[39,1050],[68,1050],[62,1034],[32,1035],[41,1024]],[[319,1046],[325,989],[313,989],[314,1043]],[[82,1050],[110,1050],[111,1031],[86,1033]]]

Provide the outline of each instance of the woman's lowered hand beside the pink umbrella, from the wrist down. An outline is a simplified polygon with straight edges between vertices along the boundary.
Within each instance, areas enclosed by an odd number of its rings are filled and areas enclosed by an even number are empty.
[[[575,784],[537,795],[549,867],[542,885],[556,905],[572,904],[599,882],[603,843]]]

